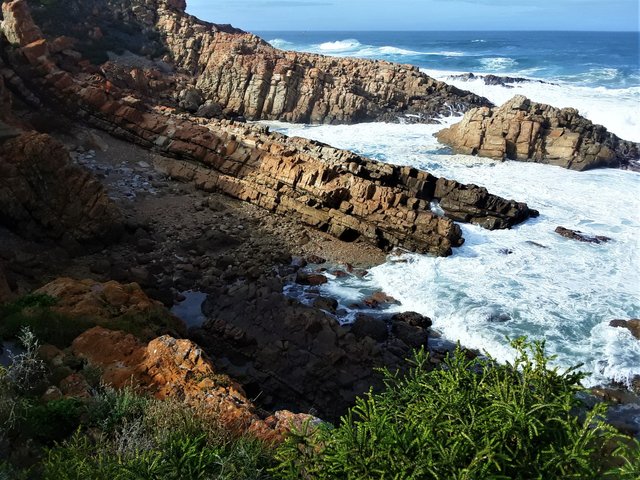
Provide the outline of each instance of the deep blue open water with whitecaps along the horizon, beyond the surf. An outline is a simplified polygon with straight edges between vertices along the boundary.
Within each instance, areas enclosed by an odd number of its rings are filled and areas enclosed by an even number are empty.
[[[639,32],[258,32],[272,45],[429,70],[515,74],[574,85],[640,85]]]

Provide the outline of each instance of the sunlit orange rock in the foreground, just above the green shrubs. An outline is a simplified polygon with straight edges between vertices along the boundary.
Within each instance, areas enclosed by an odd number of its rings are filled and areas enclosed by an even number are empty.
[[[145,345],[124,332],[95,327],[76,338],[71,350],[101,369],[106,384],[132,385],[160,399],[182,401],[236,434],[250,432],[267,441],[281,441],[293,426],[314,420],[286,411],[261,418],[242,387],[218,373],[190,340],[165,335]]]

